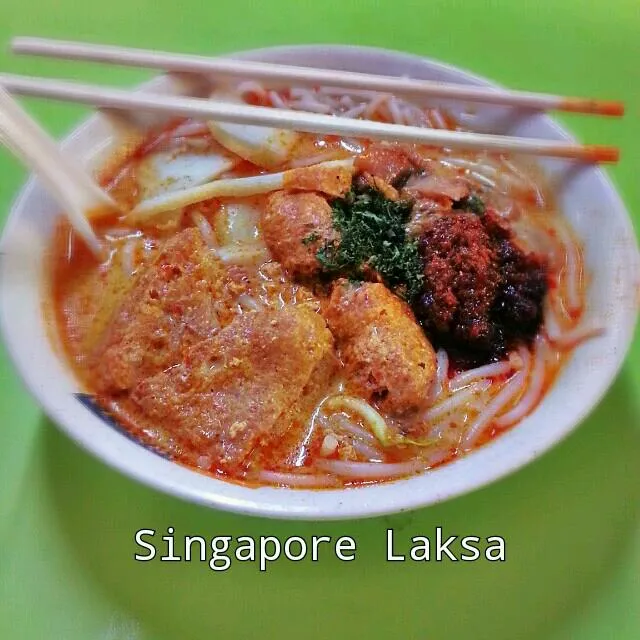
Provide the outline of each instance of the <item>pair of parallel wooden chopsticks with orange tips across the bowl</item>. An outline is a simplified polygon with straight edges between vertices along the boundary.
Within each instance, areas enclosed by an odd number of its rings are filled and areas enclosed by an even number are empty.
[[[16,38],[12,43],[12,50],[20,54],[140,66],[170,72],[195,72],[217,77],[243,77],[307,86],[328,85],[345,90],[364,89],[409,97],[430,96],[526,109],[559,110],[604,116],[621,116],[624,113],[620,102],[566,98],[548,94],[504,91],[247,60],[171,54],[108,45]],[[0,84],[13,93],[79,102],[96,107],[139,109],[172,116],[208,118],[309,133],[420,142],[434,146],[524,153],[585,162],[616,162],[619,158],[618,149],[611,146],[576,145],[531,138],[427,129],[286,109],[231,105],[202,98],[132,93],[62,80],[0,74]]]

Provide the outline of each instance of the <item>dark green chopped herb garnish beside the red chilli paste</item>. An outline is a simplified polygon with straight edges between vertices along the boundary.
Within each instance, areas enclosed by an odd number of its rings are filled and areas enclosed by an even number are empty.
[[[410,202],[389,200],[371,187],[335,200],[333,226],[341,240],[316,254],[323,270],[351,280],[370,279],[376,272],[395,293],[412,301],[424,274],[418,243],[405,231],[410,213]]]

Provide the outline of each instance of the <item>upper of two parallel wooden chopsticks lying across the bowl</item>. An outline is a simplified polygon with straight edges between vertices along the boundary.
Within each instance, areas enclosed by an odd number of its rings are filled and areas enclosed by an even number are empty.
[[[11,49],[18,54],[50,58],[87,60],[174,72],[246,77],[253,80],[279,81],[299,85],[327,85],[352,90],[380,91],[409,97],[430,96],[523,109],[570,111],[603,116],[622,116],[624,114],[624,105],[618,101],[507,91],[353,71],[316,69],[232,58],[209,58],[47,38],[14,38]]]

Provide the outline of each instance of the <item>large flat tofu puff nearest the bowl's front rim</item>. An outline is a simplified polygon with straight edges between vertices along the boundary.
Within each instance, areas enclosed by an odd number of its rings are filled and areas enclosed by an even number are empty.
[[[163,425],[181,458],[228,471],[282,438],[296,412],[320,399],[335,363],[321,315],[303,306],[258,311],[142,381],[132,400]]]

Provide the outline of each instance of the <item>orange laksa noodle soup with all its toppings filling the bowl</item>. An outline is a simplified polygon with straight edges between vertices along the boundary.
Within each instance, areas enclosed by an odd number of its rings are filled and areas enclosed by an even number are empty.
[[[389,96],[235,92],[457,126]],[[197,195],[229,178],[248,182]],[[446,464],[529,414],[594,333],[581,248],[514,158],[179,121],[102,182],[133,215],[96,219],[102,262],[56,229],[66,357],[137,439],[226,480],[320,489]]]

